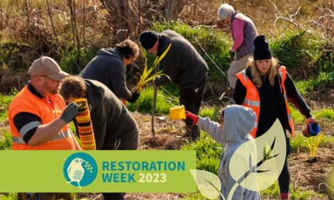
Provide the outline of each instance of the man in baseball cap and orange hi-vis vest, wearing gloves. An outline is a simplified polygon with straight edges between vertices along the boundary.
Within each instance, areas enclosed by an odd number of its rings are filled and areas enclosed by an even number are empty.
[[[67,75],[47,56],[33,62],[29,68],[31,81],[8,110],[13,150],[81,150],[67,127],[81,113],[80,106],[76,103],[66,106],[58,94],[61,80]]]

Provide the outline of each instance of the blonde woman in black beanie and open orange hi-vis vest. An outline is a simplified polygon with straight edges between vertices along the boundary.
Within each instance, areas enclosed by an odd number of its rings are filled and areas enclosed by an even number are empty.
[[[257,115],[257,126],[250,132],[254,138],[266,133],[278,118],[287,138],[287,155],[290,152],[286,130],[294,134],[294,124],[288,106],[288,100],[296,106],[306,118],[306,124],[317,123],[310,114],[310,108],[299,94],[294,81],[286,68],[272,57],[271,49],[264,35],[254,40],[254,60],[247,68],[237,74],[233,99],[239,104],[252,108]],[[278,177],[280,199],[289,199],[289,169],[287,156],[283,171]]]

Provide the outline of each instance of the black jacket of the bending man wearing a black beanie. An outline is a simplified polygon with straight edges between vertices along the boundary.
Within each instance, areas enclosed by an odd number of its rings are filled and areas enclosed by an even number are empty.
[[[163,73],[168,75],[180,89],[200,85],[209,71],[202,56],[182,35],[170,30],[159,33],[157,56],[161,56],[169,44],[171,44],[170,49],[161,60],[161,66],[164,68]],[[161,76],[156,82],[158,86],[167,83],[169,83],[169,79],[166,76]]]

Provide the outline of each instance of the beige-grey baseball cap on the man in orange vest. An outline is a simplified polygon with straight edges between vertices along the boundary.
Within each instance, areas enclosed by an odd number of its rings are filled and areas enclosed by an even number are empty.
[[[65,76],[69,76],[66,72],[61,70],[56,60],[41,56],[37,60],[33,61],[33,65],[29,68],[30,76],[47,76],[54,80],[62,80]]]

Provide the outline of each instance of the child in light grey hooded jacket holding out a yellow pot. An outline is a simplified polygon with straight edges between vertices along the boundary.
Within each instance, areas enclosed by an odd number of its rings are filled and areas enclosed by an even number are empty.
[[[227,106],[225,110],[221,111],[219,116],[220,124],[217,122],[211,122],[208,117],[202,118],[193,113],[186,112],[186,116],[193,119],[193,123],[198,125],[202,131],[207,132],[214,140],[221,144],[226,144],[225,153],[221,153],[220,165],[219,165],[219,178],[221,180],[221,194],[225,199],[228,199],[228,195],[237,181],[232,178],[230,174],[230,160],[234,152],[244,142],[253,140],[253,137],[249,135],[253,130],[256,121],[256,115],[254,111],[245,106],[231,105]],[[238,155],[240,162],[248,162],[249,158],[244,155]],[[249,167],[251,168],[251,163]],[[246,172],[246,171],[245,171]],[[256,184],[256,181],[254,182]],[[220,197],[221,199],[221,197]],[[232,200],[249,199],[257,200],[261,199],[260,192],[254,192],[247,190],[241,185],[237,186],[233,193]]]

